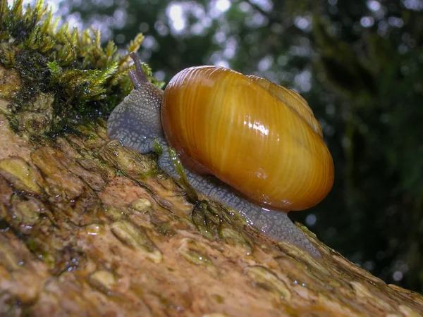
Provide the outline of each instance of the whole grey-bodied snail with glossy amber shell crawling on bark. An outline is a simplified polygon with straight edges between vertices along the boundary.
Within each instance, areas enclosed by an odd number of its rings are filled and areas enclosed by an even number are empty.
[[[231,207],[276,242],[319,251],[288,211],[319,203],[333,185],[333,161],[307,101],[257,76],[218,66],[186,68],[164,92],[131,53],[135,89],[111,112],[107,133],[142,154],[162,151],[161,170]],[[159,145],[159,146],[158,146]]]

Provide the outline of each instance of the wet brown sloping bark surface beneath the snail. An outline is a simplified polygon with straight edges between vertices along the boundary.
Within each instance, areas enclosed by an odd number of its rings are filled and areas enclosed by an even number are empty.
[[[190,204],[153,156],[110,140],[104,121],[35,137],[53,96],[12,114],[19,76],[0,75],[0,316],[422,316],[420,294],[305,227],[320,260],[222,206]]]

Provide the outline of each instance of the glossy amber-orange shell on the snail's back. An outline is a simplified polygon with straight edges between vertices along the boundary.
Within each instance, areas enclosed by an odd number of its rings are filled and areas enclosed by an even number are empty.
[[[261,77],[182,70],[165,89],[161,122],[185,167],[263,206],[307,209],[332,187],[332,157],[307,102]]]

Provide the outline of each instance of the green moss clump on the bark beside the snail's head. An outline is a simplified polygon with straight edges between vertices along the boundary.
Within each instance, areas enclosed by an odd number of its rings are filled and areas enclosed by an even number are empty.
[[[132,89],[127,76],[130,58],[120,56],[114,42],[102,47],[99,30],[80,32],[68,23],[58,28],[59,19],[38,0],[35,6],[23,8],[22,0],[12,6],[0,4],[0,62],[15,69],[22,89],[9,108],[12,115],[28,111],[39,93],[53,93],[53,113],[47,137],[75,132],[75,126],[108,116]],[[137,35],[128,52],[137,51],[144,37]],[[162,82],[144,70],[159,87]],[[9,118],[17,131],[16,120]]]

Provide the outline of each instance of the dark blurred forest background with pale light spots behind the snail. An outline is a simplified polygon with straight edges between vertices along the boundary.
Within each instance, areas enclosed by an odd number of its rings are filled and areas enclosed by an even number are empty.
[[[159,80],[214,64],[296,89],[336,179],[290,213],[388,283],[423,292],[422,0],[51,1],[71,26],[139,51]]]

